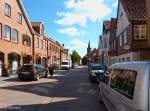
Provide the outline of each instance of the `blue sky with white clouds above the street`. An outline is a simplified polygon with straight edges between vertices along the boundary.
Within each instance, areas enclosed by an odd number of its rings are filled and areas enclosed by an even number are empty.
[[[118,0],[22,0],[31,22],[43,22],[45,34],[84,56],[88,42],[98,47],[104,20],[117,15]]]

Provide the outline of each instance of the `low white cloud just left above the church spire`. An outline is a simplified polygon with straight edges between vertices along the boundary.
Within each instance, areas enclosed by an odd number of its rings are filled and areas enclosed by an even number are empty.
[[[69,47],[72,49],[83,49],[87,48],[87,44],[80,41],[79,39],[74,39],[70,42]]]

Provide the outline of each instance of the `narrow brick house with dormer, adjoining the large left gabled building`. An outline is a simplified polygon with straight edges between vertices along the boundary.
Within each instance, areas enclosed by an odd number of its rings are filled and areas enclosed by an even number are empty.
[[[47,54],[48,54],[48,40],[44,35],[44,24],[42,22],[32,22],[32,27],[35,32],[34,35],[34,63],[47,65]]]

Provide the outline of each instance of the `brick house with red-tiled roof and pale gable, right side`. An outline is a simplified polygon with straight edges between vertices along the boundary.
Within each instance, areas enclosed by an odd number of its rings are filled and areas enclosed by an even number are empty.
[[[150,59],[146,21],[145,0],[119,0],[116,32],[119,62]]]

